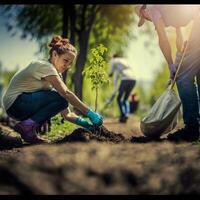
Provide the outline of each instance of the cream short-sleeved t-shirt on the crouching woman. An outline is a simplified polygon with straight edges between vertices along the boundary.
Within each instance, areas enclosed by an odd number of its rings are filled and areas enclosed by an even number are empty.
[[[3,107],[8,110],[17,97],[23,92],[51,90],[51,84],[44,79],[46,76],[59,76],[56,68],[46,60],[31,62],[26,68],[18,71],[11,79],[3,95]]]

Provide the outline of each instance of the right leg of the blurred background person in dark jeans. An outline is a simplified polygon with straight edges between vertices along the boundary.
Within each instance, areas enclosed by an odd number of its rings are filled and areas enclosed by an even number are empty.
[[[122,105],[124,107],[124,113],[126,117],[128,117],[128,114],[130,113],[130,105],[129,105],[128,97],[130,96],[131,91],[135,86],[135,83],[136,83],[135,80],[127,80],[125,84],[125,91],[124,91],[125,95],[123,98]]]

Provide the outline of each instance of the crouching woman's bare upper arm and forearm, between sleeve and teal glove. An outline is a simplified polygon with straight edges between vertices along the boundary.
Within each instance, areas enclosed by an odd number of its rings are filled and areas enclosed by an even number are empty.
[[[89,111],[89,108],[67,88],[59,76],[46,76],[45,80],[50,82],[62,97],[64,97],[71,105],[80,110],[83,114],[86,114]]]

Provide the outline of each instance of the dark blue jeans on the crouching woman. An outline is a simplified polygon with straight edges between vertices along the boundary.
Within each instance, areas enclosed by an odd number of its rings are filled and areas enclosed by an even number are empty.
[[[22,93],[7,110],[19,121],[28,118],[42,124],[68,107],[68,102],[55,90]]]

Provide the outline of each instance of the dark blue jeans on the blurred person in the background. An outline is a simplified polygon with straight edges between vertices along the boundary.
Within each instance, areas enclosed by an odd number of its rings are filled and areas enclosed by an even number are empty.
[[[125,117],[130,112],[130,105],[128,97],[135,86],[135,80],[122,80],[119,86],[119,94],[117,96],[117,103],[120,110],[120,117]]]

